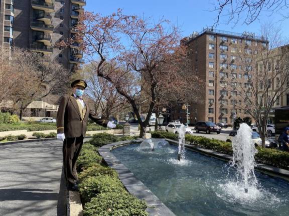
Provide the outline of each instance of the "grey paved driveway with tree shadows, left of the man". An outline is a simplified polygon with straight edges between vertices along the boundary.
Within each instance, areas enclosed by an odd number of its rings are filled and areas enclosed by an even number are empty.
[[[62,142],[0,145],[0,215],[65,215]]]

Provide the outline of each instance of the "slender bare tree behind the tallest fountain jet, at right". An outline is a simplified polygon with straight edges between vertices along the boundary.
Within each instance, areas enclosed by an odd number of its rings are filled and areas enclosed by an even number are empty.
[[[265,147],[269,112],[280,105],[280,97],[289,88],[289,46],[272,25],[263,25],[262,34],[270,43],[245,44],[247,47],[238,52],[247,82],[243,83],[232,75],[230,87],[232,94],[242,98],[241,104],[234,101],[236,106],[255,120]]]

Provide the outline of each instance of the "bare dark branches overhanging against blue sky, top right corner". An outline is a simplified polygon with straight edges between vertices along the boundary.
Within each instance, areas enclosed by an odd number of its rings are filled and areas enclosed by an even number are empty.
[[[281,13],[283,19],[289,18],[287,0],[218,0],[214,3],[218,15],[214,25],[218,24],[222,15],[228,16],[228,22],[237,24],[244,17],[245,24],[251,24],[263,11],[270,15]]]

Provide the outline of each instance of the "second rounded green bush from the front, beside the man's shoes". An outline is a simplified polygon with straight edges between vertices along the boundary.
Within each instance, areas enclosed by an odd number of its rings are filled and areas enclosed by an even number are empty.
[[[98,193],[123,191],[125,189],[121,181],[109,175],[88,177],[79,184],[79,192],[84,203],[89,202]]]

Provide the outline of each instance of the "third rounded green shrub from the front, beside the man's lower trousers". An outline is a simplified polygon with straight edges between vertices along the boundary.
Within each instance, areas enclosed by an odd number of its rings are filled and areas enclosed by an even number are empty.
[[[89,177],[89,176],[100,176],[100,175],[108,175],[111,177],[117,177],[117,172],[108,166],[103,166],[101,164],[95,164],[93,166],[88,167],[87,169],[84,169],[80,174],[78,175],[79,181],[82,181],[83,179]]]

